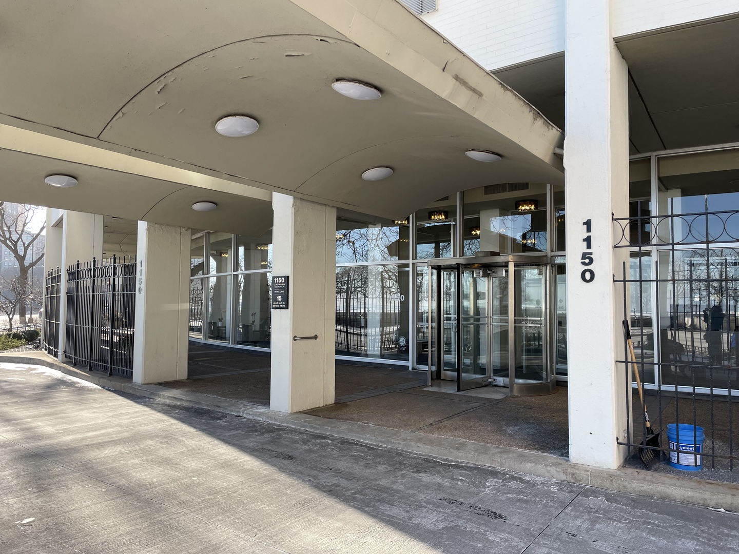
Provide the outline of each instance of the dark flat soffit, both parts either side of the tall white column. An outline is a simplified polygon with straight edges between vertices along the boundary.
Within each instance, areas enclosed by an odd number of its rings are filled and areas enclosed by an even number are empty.
[[[629,66],[630,153],[739,141],[739,17],[616,38]],[[565,54],[494,72],[565,128]]]

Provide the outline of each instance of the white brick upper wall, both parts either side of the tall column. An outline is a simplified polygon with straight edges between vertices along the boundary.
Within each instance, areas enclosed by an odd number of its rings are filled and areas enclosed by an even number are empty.
[[[423,16],[486,69],[565,49],[566,0],[437,0]],[[739,12],[739,0],[616,0],[614,36]]]

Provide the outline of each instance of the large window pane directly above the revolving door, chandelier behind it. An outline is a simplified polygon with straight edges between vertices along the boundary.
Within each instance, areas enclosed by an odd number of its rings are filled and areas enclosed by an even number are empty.
[[[547,185],[502,183],[464,194],[464,255],[546,252]]]

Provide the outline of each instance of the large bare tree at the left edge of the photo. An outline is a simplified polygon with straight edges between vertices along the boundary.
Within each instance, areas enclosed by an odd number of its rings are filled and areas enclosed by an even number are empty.
[[[16,259],[18,279],[25,284],[28,284],[28,273],[31,268],[44,259],[44,251],[42,249],[35,249],[36,251],[34,251],[33,244],[44,232],[45,225],[41,225],[41,228],[36,231],[30,230],[34,216],[41,209],[36,206],[0,202],[0,244],[6,247],[13,258]],[[41,252],[38,252],[38,250],[41,250]],[[14,286],[17,288],[17,285]],[[27,290],[32,291],[32,288],[29,285]],[[10,296],[14,294],[10,289],[4,292],[7,292]],[[29,292],[21,295],[21,299],[18,300],[16,309],[21,325],[27,323],[26,302],[31,298],[33,298],[33,293]],[[13,314],[15,315],[15,310],[13,310]]]

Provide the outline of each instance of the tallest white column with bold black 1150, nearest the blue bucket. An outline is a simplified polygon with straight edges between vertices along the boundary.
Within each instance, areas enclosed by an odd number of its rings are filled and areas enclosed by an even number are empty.
[[[614,363],[624,356],[623,297],[613,276],[628,253],[613,248],[611,220],[629,213],[627,66],[613,43],[612,3],[567,0],[565,42],[570,459],[601,468],[623,462],[616,440],[627,425],[626,369]]]

